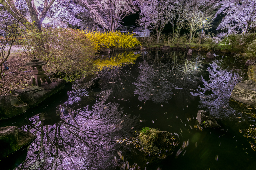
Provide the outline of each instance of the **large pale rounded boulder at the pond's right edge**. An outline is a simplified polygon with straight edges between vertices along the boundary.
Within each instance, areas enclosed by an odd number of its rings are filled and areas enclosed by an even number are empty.
[[[252,80],[237,83],[230,97],[243,103],[256,106],[256,83]]]

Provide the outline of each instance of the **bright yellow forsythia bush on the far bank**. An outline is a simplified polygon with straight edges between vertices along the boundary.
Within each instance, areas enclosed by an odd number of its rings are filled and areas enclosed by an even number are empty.
[[[96,50],[99,50],[102,47],[126,49],[141,44],[135,37],[133,37],[133,34],[124,34],[121,31],[104,33],[84,31],[84,34],[92,41]]]

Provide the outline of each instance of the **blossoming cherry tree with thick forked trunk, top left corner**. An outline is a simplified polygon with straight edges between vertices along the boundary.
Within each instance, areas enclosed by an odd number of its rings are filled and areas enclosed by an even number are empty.
[[[67,26],[67,23],[80,26],[81,19],[77,15],[88,13],[79,3],[68,0],[49,2],[48,0],[1,0],[0,3],[15,19],[22,15],[19,10],[27,11],[28,15],[22,19],[21,23],[29,30],[41,30],[44,20],[50,21],[50,24],[55,27]]]

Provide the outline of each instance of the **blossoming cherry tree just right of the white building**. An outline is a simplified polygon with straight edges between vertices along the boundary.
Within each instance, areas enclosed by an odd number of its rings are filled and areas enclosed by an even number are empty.
[[[159,43],[159,37],[165,25],[167,23],[174,24],[178,3],[178,0],[148,0],[140,2],[140,25],[144,27],[154,26],[157,43]]]

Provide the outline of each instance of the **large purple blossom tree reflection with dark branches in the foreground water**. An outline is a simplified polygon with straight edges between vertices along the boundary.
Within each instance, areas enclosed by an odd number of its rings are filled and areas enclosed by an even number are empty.
[[[28,156],[17,169],[114,169],[117,161],[115,138],[129,136],[138,126],[137,117],[124,115],[119,104],[105,103],[111,90],[103,91],[92,109],[74,111],[59,106],[61,121],[44,125],[44,113],[22,126],[37,135]]]

